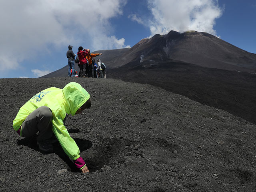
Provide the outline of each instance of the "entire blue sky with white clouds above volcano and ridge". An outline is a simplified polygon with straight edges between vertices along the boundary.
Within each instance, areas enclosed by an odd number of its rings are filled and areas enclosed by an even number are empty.
[[[66,51],[132,47],[170,30],[196,30],[256,54],[256,0],[8,0],[0,2],[0,78],[37,78]]]

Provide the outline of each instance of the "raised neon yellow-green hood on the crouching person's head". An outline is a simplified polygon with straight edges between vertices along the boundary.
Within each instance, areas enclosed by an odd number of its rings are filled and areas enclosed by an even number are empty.
[[[66,84],[62,92],[72,115],[75,115],[76,111],[90,98],[90,94],[76,82]]]

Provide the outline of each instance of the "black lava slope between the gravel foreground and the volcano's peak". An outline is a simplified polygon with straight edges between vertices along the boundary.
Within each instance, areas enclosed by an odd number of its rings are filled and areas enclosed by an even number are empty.
[[[148,68],[130,68],[127,64],[108,70],[107,74],[111,78],[158,86],[256,124],[256,74],[169,61]]]

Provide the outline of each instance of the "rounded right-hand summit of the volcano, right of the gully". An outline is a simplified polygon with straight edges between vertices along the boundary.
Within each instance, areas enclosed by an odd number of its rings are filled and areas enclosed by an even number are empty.
[[[256,54],[246,52],[204,32],[185,32],[166,38],[169,58],[208,68],[256,72]]]

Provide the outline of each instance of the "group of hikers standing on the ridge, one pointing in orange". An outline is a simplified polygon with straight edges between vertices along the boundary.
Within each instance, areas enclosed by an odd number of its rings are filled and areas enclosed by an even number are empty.
[[[69,77],[94,77],[106,78],[106,66],[100,59],[95,62],[94,57],[102,55],[102,53],[90,53],[90,49],[84,49],[82,46],[78,48],[77,56],[72,51],[73,46],[68,46],[68,76]],[[75,59],[76,56],[76,59]],[[79,66],[79,73],[75,70],[75,64]]]

